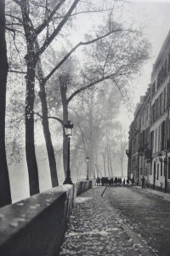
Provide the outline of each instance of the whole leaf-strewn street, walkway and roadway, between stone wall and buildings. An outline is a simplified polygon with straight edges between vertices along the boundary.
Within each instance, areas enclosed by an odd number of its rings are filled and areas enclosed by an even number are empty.
[[[170,255],[170,202],[132,187],[99,186],[77,197],[60,256]]]

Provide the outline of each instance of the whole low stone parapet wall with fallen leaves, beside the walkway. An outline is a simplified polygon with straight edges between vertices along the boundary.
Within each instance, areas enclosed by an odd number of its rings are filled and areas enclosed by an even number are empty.
[[[94,185],[62,185],[0,208],[0,255],[58,255],[76,196]]]

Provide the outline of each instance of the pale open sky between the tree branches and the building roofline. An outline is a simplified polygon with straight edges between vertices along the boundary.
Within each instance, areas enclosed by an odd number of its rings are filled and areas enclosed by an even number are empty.
[[[136,10],[134,15],[138,15],[139,22],[144,24],[144,32],[152,44],[152,57],[144,66],[141,77],[133,83],[135,87],[133,104],[135,106],[139,102],[139,96],[145,94],[148,84],[150,84],[153,64],[170,30],[170,0],[133,0],[133,7]],[[127,113],[126,108],[122,108],[122,113],[118,119],[128,130],[128,126],[133,120],[133,113]]]

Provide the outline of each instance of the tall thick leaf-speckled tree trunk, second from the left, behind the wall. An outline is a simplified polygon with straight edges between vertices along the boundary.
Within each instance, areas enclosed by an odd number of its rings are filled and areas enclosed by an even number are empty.
[[[20,2],[22,11],[23,25],[26,35],[26,161],[28,166],[28,177],[30,183],[30,195],[39,193],[39,181],[37,171],[37,160],[34,144],[34,87],[35,75],[37,66],[37,55],[35,49],[35,40],[33,38],[33,31],[29,19],[29,6],[26,1]]]

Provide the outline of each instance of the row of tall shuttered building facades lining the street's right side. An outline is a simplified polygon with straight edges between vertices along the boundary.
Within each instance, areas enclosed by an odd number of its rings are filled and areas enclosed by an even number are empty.
[[[151,73],[151,84],[129,128],[127,176],[170,192],[170,32]]]

